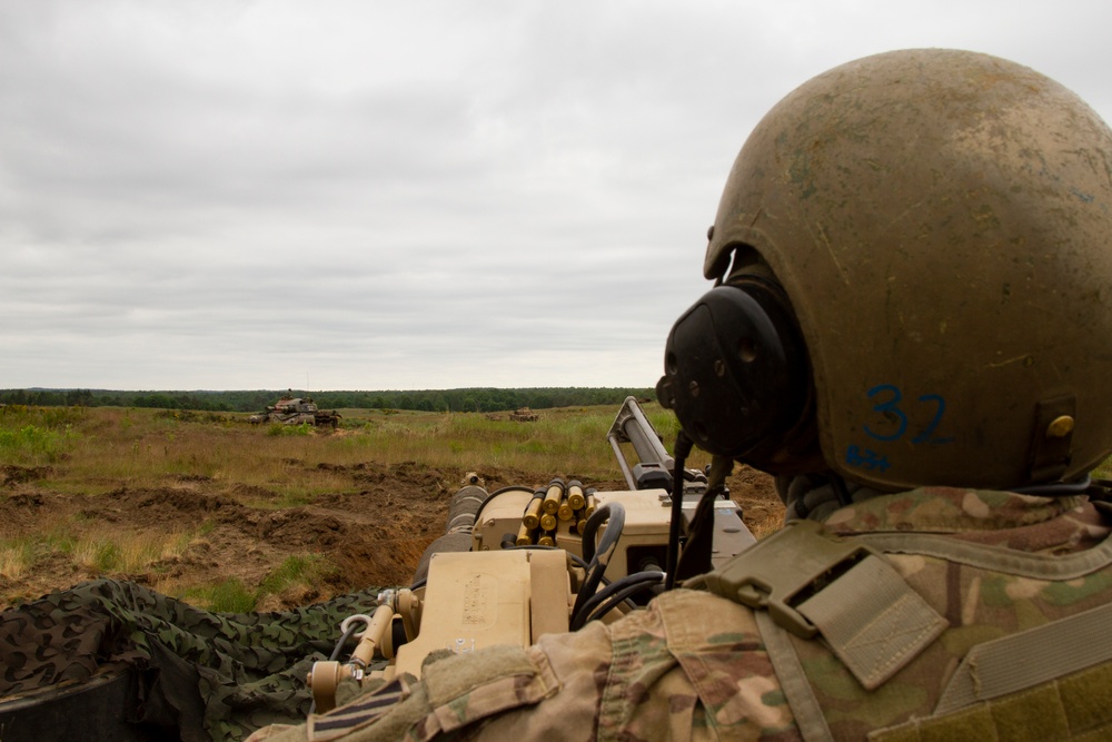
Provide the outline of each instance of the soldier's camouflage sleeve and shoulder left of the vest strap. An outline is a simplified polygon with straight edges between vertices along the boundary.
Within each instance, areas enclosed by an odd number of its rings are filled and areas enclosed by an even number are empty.
[[[360,701],[271,739],[800,739],[752,613],[692,591],[527,650],[440,660],[385,713],[321,734]]]

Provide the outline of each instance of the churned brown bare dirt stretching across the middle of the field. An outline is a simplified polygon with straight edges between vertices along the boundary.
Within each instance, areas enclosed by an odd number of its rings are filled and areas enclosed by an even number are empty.
[[[48,469],[2,466],[0,491],[6,496],[0,497],[0,537],[49,531],[63,522],[80,524],[89,533],[119,527],[166,534],[206,523],[205,535],[192,538],[180,554],[150,564],[140,573],[110,575],[157,590],[175,581],[219,583],[232,578],[255,586],[287,556],[306,552],[320,554],[325,563],[335,566],[312,586],[267,595],[257,606],[264,611],[305,605],[371,586],[408,584],[425,547],[444,533],[447,506],[461,486],[464,472],[415,463],[321,466],[349,476],[350,487],[296,507],[268,507],[267,502],[277,504],[277,493],[202,476],[183,477],[172,486],[120,488],[95,497],[50,493],[32,486],[48,476]],[[554,475],[496,468],[477,473],[488,492],[509,485],[536,486]],[[618,479],[584,484],[599,489],[626,488]],[[783,507],[766,475],[742,467],[728,485],[754,533],[762,535],[780,524]],[[37,560],[22,574],[0,574],[0,595],[8,601],[12,596],[33,600],[97,576],[93,567],[60,550]]]

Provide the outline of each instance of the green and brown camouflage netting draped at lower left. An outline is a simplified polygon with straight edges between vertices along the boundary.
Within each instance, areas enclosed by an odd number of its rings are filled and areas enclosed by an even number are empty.
[[[0,614],[0,695],[88,680],[126,663],[139,679],[136,716],[181,739],[242,739],[297,723],[305,676],[339,622],[374,610],[368,590],[285,613],[207,613],[126,582],[97,580]]]

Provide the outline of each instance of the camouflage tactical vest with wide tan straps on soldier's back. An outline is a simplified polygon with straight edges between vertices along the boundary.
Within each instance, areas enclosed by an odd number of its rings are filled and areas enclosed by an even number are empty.
[[[755,609],[808,742],[1112,735],[1112,538],[1050,556],[803,521],[693,583]]]

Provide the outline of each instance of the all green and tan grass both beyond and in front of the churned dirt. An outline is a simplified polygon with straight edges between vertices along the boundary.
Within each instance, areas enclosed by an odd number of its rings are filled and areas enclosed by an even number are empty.
[[[651,419],[672,429],[671,413],[646,405]],[[542,412],[534,423],[478,413],[341,410],[339,431],[250,425],[247,415],[182,415],[152,409],[3,408],[0,464],[43,467],[22,479],[21,492],[107,495],[120,489],[195,489],[235,496],[249,507],[314,503],[351,489],[348,468],[370,462],[416,462],[458,481],[470,469],[507,468],[577,475],[586,482],[619,478],[606,442],[616,408]],[[672,434],[671,437],[674,437]],[[671,445],[671,441],[668,442]],[[526,483],[533,484],[533,483]],[[0,491],[0,498],[7,494]],[[106,501],[107,502],[107,501]],[[332,565],[318,555],[291,556],[258,584],[185,582],[167,564],[203,537],[193,531],[137,532],[99,518],[43,523],[19,533],[0,523],[0,573],[11,580],[33,574],[40,560],[69,558],[75,578],[142,575],[157,590],[218,611],[244,611],[296,594],[327,576]],[[21,595],[0,598],[23,600]]]

